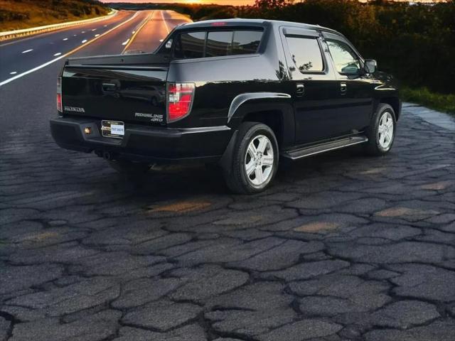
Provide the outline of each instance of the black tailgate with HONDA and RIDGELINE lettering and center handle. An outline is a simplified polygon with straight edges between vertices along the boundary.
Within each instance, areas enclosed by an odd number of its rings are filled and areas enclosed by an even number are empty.
[[[167,66],[65,65],[63,115],[166,124]]]

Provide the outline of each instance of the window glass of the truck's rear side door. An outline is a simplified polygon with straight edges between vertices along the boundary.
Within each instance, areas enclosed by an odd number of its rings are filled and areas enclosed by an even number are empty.
[[[316,38],[286,37],[292,60],[300,72],[322,71],[321,49]]]

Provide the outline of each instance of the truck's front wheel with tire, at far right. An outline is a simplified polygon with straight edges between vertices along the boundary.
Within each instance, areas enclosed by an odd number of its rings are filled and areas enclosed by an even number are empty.
[[[395,141],[396,129],[397,120],[393,108],[389,104],[379,104],[366,131],[368,142],[365,144],[365,151],[373,156],[388,153]]]

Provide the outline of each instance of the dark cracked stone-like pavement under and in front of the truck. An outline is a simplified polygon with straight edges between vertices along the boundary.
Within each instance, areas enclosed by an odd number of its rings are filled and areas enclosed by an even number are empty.
[[[256,196],[6,133],[0,340],[455,340],[454,131],[411,111]]]

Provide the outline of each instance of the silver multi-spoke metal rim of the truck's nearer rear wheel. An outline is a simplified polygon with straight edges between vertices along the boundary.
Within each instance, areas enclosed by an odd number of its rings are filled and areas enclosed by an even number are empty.
[[[252,185],[266,183],[273,174],[274,154],[272,142],[264,135],[251,140],[245,154],[245,172]]]

